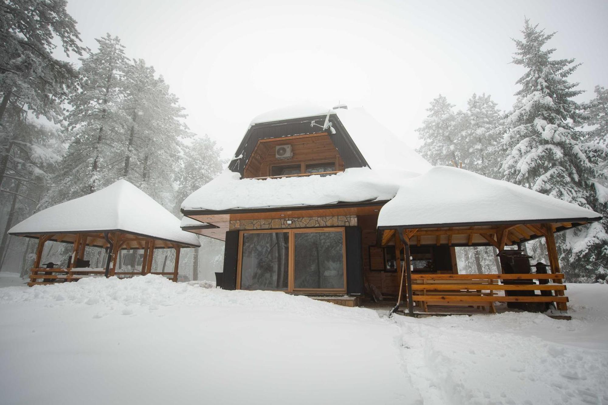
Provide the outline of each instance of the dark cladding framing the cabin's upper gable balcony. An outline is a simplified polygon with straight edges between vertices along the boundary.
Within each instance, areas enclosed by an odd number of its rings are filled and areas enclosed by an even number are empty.
[[[287,138],[304,134],[319,134],[320,131],[323,131],[322,128],[319,128],[319,126],[311,126],[311,121],[315,120],[316,123],[323,123],[325,117],[326,116],[306,117],[250,126],[235,154],[235,156],[240,157],[231,161],[228,167],[232,171],[241,173],[241,177],[256,177],[257,175],[251,173],[260,173],[260,170],[264,170],[260,167],[262,160],[260,154],[267,155],[268,153],[271,153],[271,150],[266,150],[263,147],[260,148],[258,146],[260,145],[260,142],[258,141],[263,139],[279,139],[282,137]],[[348,132],[336,114],[331,114],[330,122],[333,124],[334,130],[336,130],[336,134],[328,135],[331,144],[333,144],[333,147],[336,148],[339,154],[339,164],[337,164],[336,167],[342,170],[342,168],[367,166],[367,162],[362,156],[361,151],[354,145],[353,140],[348,135]],[[324,151],[326,149],[326,147],[320,148],[320,150]],[[328,159],[324,154],[321,153],[320,155],[319,159],[314,160]],[[252,156],[254,156],[254,160],[250,161]],[[256,159],[257,161],[255,161]],[[286,161],[285,163],[288,164],[289,161]],[[249,173],[249,167],[252,167],[251,173]],[[247,175],[245,171],[246,168],[248,170]]]

